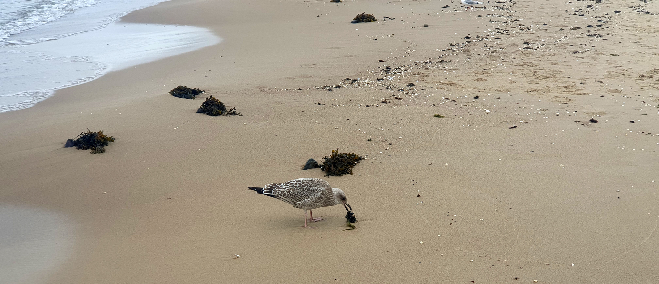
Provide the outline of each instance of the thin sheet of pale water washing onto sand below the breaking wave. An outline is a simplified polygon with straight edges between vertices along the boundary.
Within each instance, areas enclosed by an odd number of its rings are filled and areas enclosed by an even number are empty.
[[[140,9],[139,4],[131,5]],[[59,89],[96,80],[107,72],[221,41],[208,30],[193,26],[120,23],[121,17],[115,12],[129,14],[130,11],[107,6],[98,3],[84,7],[48,26],[38,26],[11,37],[0,51],[7,56],[5,71],[11,70],[2,76],[8,88],[0,94],[3,104],[0,111],[29,108]],[[80,25],[84,28],[78,28]],[[41,80],[25,79],[33,74],[38,74]]]

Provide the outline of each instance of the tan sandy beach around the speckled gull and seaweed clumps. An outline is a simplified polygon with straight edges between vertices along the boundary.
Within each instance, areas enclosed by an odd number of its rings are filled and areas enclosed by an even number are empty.
[[[23,228],[1,233],[0,274],[658,283],[658,4],[483,6],[175,0],[125,16],[223,42],[0,115],[0,222]],[[363,11],[396,20],[348,23]],[[196,114],[200,100],[167,95],[176,85],[244,116]],[[63,148],[87,128],[117,141],[104,154]],[[326,178],[347,193],[355,230],[342,231],[342,206],[304,229],[302,210],[246,191],[323,177],[302,165],[337,147],[368,155]]]

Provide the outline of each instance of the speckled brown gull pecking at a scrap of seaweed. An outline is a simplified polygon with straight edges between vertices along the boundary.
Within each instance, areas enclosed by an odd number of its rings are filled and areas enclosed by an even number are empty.
[[[304,210],[304,227],[306,225],[306,210],[309,210],[311,218],[309,221],[318,222],[322,218],[314,218],[312,209],[343,204],[345,210],[350,212],[353,208],[348,204],[348,199],[341,189],[329,186],[323,179],[304,177],[286,181],[285,183],[270,183],[265,187],[247,187],[248,190],[256,191],[262,195],[274,197],[280,201],[292,204],[295,208]]]

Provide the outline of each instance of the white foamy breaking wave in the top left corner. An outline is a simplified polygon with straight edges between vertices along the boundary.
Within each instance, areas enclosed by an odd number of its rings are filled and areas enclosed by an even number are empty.
[[[53,22],[66,14],[98,3],[96,0],[49,0],[43,1],[26,11],[22,11],[18,17],[7,19],[0,23],[0,41],[10,35],[18,34],[49,22]]]

